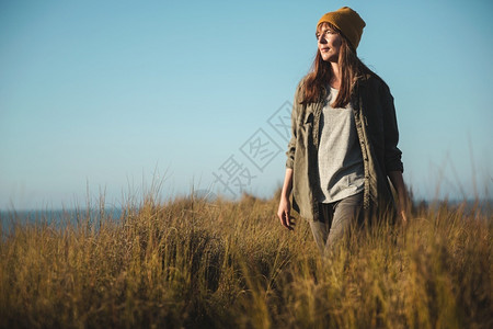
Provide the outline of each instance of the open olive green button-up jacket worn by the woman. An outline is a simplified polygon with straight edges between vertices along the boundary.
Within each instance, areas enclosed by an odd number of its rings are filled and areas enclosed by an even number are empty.
[[[317,157],[325,97],[317,103],[300,104],[303,80],[295,94],[286,167],[293,169],[293,208],[301,217],[317,220],[319,207],[314,186],[320,184]],[[379,216],[393,211],[388,173],[403,171],[402,152],[397,146],[399,131],[393,98],[383,80],[371,75],[356,82],[351,104],[364,160],[364,208],[366,214]]]

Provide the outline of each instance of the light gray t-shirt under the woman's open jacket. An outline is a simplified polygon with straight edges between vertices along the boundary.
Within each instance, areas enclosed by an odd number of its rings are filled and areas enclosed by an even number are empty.
[[[320,117],[318,201],[322,203],[357,194],[364,190],[365,182],[353,107],[351,104],[344,109],[331,106],[337,92],[331,88]]]

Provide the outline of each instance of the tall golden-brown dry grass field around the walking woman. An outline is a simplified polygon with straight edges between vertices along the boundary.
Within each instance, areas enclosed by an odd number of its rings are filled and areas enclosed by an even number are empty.
[[[122,218],[14,225],[0,327],[493,328],[491,209],[421,207],[322,260],[306,222],[280,226],[277,200],[149,196]]]

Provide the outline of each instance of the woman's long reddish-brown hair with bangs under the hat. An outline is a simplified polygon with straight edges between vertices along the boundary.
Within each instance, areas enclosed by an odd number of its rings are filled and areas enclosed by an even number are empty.
[[[332,107],[344,107],[351,101],[351,94],[356,80],[367,73],[375,73],[362,63],[362,60],[356,56],[356,49],[351,46],[347,38],[335,26],[323,22],[317,27],[317,30],[321,29],[323,24],[328,24],[329,27],[339,33],[342,38],[339,54],[341,89],[339,90],[335,101],[333,101],[331,105]],[[320,99],[324,95],[325,88],[330,80],[331,65],[322,59],[320,50],[317,49],[317,55],[311,70],[305,79],[305,92],[301,104],[320,101]]]

